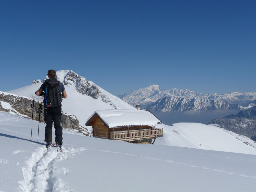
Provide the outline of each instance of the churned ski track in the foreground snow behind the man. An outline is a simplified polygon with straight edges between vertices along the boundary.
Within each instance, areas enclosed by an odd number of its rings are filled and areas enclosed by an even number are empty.
[[[45,146],[37,148],[31,158],[26,161],[27,166],[22,168],[24,180],[19,181],[20,190],[22,192],[72,192],[60,178],[55,177],[55,173],[60,171],[55,164],[84,150],[63,148],[62,152],[57,152],[56,147],[51,147],[49,151]],[[68,169],[64,167],[62,169],[66,176]]]

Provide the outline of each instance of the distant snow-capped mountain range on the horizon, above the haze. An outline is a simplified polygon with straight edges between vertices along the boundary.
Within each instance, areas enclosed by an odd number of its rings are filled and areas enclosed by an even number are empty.
[[[132,106],[140,104],[152,112],[243,110],[256,106],[256,92],[202,94],[189,89],[163,89],[159,85],[118,95]]]

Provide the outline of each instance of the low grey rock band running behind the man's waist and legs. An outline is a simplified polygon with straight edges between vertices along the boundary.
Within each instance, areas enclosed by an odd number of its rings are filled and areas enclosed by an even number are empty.
[[[9,103],[11,107],[15,109],[18,113],[22,115],[26,115],[28,118],[32,118],[32,111],[33,111],[31,107],[31,104],[33,102],[32,99],[0,92],[0,101]],[[0,109],[1,109],[1,105],[0,105]],[[5,111],[8,112],[8,110],[5,110]],[[17,112],[15,113],[17,114]],[[17,114],[17,115],[20,115],[20,114]],[[39,120],[39,103],[38,102],[35,102],[33,117],[35,120]],[[42,113],[40,117],[40,121],[43,122],[43,119],[44,119],[44,115]],[[61,125],[64,128],[70,128],[70,129],[76,129],[76,130],[81,129],[79,125],[79,121],[76,118],[76,116],[69,115],[64,112],[62,112]]]

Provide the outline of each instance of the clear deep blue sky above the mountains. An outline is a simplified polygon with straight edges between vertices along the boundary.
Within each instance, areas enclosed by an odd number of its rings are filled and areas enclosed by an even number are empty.
[[[256,91],[256,1],[1,0],[0,91],[48,69],[114,95]]]

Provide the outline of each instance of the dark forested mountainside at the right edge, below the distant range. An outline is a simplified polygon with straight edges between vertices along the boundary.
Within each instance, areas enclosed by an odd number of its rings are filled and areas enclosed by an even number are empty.
[[[245,135],[256,141],[256,106],[240,111],[237,115],[213,119],[209,124],[215,124],[220,128]]]

